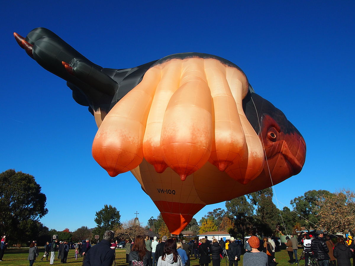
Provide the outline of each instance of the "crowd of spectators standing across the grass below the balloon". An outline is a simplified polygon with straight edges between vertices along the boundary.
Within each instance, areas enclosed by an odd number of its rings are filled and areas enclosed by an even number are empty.
[[[41,260],[54,264],[55,258],[60,259],[61,263],[67,263],[67,256],[70,248],[75,248],[75,260],[82,257],[82,266],[115,266],[115,248],[117,241],[114,242],[114,232],[106,231],[103,239],[98,244],[91,246],[89,239],[83,243],[69,243],[53,239],[52,243],[44,245],[44,255]],[[286,250],[290,257],[290,264],[297,264],[304,259],[305,265],[311,265],[311,260],[315,260],[319,266],[337,265],[350,266],[350,259],[354,265],[354,242],[349,235],[347,239],[337,238],[337,243],[333,243],[329,235],[324,235],[323,231],[316,231],[316,234],[303,233],[296,237],[286,237]],[[302,256],[297,256],[299,246],[303,246]],[[0,261],[7,247],[6,236],[1,239]],[[221,260],[225,258],[229,266],[238,266],[240,257],[243,253],[244,266],[275,266],[275,242],[271,237],[259,239],[251,236],[241,245],[241,242],[234,237],[230,239],[217,240],[212,237],[212,241],[207,236],[201,239],[182,240],[168,239],[164,235],[161,240],[154,237],[151,241],[148,236],[145,238],[137,235],[133,241],[126,239],[126,263],[129,266],[190,266],[190,259],[198,259],[200,266],[220,266]],[[58,254],[57,254],[58,253]],[[57,257],[56,257],[57,254]],[[39,256],[37,243],[33,241],[29,245],[29,266],[32,266],[35,259]],[[227,263],[227,262],[226,262]]]

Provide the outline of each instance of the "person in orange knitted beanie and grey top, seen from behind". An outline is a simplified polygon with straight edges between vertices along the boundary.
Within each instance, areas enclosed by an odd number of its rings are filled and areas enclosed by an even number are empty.
[[[268,257],[266,253],[260,252],[260,239],[253,235],[248,239],[251,251],[244,254],[243,266],[268,266]]]

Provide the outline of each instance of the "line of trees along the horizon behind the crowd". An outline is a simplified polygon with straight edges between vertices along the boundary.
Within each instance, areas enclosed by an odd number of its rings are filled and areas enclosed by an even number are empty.
[[[25,189],[24,189],[25,188]],[[279,210],[272,201],[273,190],[266,188],[225,202],[225,209],[207,212],[199,222],[192,218],[184,231],[192,234],[209,231],[225,231],[244,239],[246,235],[291,234],[306,230],[323,229],[330,233],[354,233],[355,194],[350,190],[331,193],[327,190],[309,190],[290,201],[292,210]],[[46,196],[32,175],[7,170],[0,173],[0,233],[11,235],[10,244],[21,246],[32,240],[40,244],[49,241],[53,235],[61,240],[73,242],[94,239],[110,229],[119,239],[131,239],[150,230],[159,235],[170,235],[162,216],[153,216],[142,227],[132,219],[121,223],[120,211],[111,205],[104,205],[95,214],[95,228],[82,226],[74,232],[66,228],[56,231],[44,226],[39,219],[48,213]]]

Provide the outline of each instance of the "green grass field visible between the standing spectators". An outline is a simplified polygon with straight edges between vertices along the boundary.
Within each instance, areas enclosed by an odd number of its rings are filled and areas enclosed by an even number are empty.
[[[300,250],[301,252],[301,250]],[[35,266],[44,266],[44,265],[49,265],[49,260],[48,261],[41,261],[41,258],[44,254],[44,250],[39,250],[39,257],[36,259],[35,263],[33,265]],[[300,254],[300,253],[299,253]],[[56,256],[58,253],[56,252]],[[6,265],[6,266],[28,266],[29,261],[27,260],[28,256],[28,248],[21,248],[21,249],[13,249],[9,248],[5,251],[5,255],[3,257],[3,260],[0,261],[0,266],[1,265]],[[48,259],[50,256],[48,257]],[[275,258],[277,262],[277,266],[286,266],[289,265],[289,256],[287,255],[286,250],[281,250],[279,252],[275,253]],[[44,258],[45,260],[45,258]],[[243,256],[241,256],[241,261],[239,261],[238,265],[241,266],[243,261]],[[60,260],[55,259],[54,264],[58,265],[61,264]],[[78,257],[78,260],[75,260],[75,255],[74,255],[74,250],[70,250],[68,254],[68,259],[67,259],[67,264],[66,266],[81,266],[82,265],[82,257]],[[116,265],[118,266],[127,266],[126,264],[126,251],[125,249],[116,249]],[[195,259],[192,257],[191,259],[191,266],[198,265],[198,259]],[[209,264],[212,266],[212,263]],[[228,261],[226,262],[225,259],[221,261],[221,266],[228,266]]]

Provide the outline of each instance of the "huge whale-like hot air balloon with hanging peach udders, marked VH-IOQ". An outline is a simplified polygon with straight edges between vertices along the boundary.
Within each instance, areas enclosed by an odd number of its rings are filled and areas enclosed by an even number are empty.
[[[131,171],[173,234],[205,205],[270,187],[304,165],[302,135],[228,60],[190,52],[110,69],[48,29],[14,35],[89,106],[99,128],[94,159],[110,176]]]

